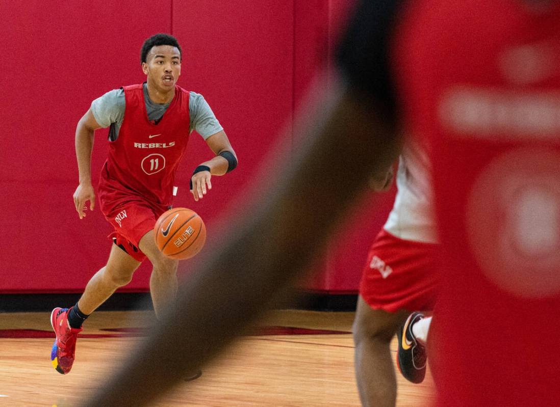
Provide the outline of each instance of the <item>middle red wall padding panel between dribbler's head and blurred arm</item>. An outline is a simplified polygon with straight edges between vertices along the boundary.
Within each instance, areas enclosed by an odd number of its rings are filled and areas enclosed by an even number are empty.
[[[173,34],[185,48],[179,84],[206,98],[239,158],[237,169],[214,177],[211,193],[198,202],[186,186],[212,153],[197,134],[181,163],[176,203],[197,211],[212,239],[221,215],[243,212],[244,201],[258,196],[264,186],[255,183],[257,169],[267,164],[279,129],[291,123],[292,2],[175,0],[173,6]]]

